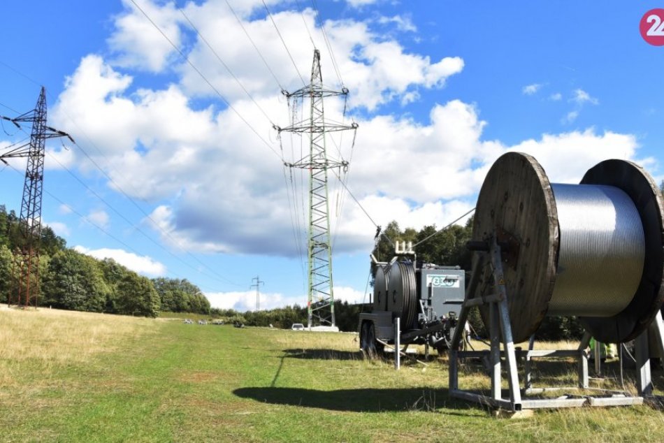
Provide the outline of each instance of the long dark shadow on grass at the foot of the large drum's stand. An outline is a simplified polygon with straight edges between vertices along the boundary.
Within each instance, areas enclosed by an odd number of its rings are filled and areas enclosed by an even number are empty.
[[[447,389],[362,388],[317,391],[305,388],[238,388],[233,393],[241,398],[273,405],[317,407],[331,411],[433,412],[441,407],[468,409],[467,403],[449,398]],[[477,412],[482,413],[482,410],[477,409]]]

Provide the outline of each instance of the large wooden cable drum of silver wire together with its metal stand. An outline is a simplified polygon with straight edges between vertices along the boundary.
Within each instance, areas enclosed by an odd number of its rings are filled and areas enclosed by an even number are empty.
[[[511,411],[635,405],[654,398],[649,358],[664,352],[664,201],[643,168],[607,160],[589,169],[580,184],[556,184],[533,157],[504,154],[479,191],[469,247],[471,277],[450,346],[450,395]],[[475,306],[491,347],[458,350],[459,331]],[[579,347],[534,349],[545,316],[577,317],[586,331]],[[589,386],[591,337],[635,340],[637,395]],[[528,342],[528,349],[517,349],[519,342]],[[460,361],[478,357],[489,362],[490,389],[460,388]],[[577,386],[535,388],[534,358],[574,359]],[[573,389],[581,392],[542,395]]]

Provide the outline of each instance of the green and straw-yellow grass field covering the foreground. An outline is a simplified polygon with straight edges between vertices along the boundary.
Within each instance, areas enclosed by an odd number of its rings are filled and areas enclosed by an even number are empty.
[[[445,359],[408,361],[396,372],[356,349],[352,334],[4,307],[0,441],[664,438],[664,414],[648,406],[496,419],[448,397]],[[477,374],[471,383],[484,381]]]

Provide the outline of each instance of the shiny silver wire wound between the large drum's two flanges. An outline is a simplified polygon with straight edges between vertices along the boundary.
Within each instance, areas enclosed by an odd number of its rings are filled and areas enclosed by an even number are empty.
[[[548,315],[618,314],[643,273],[644,233],[634,202],[612,186],[552,183],[551,189],[560,251]]]

